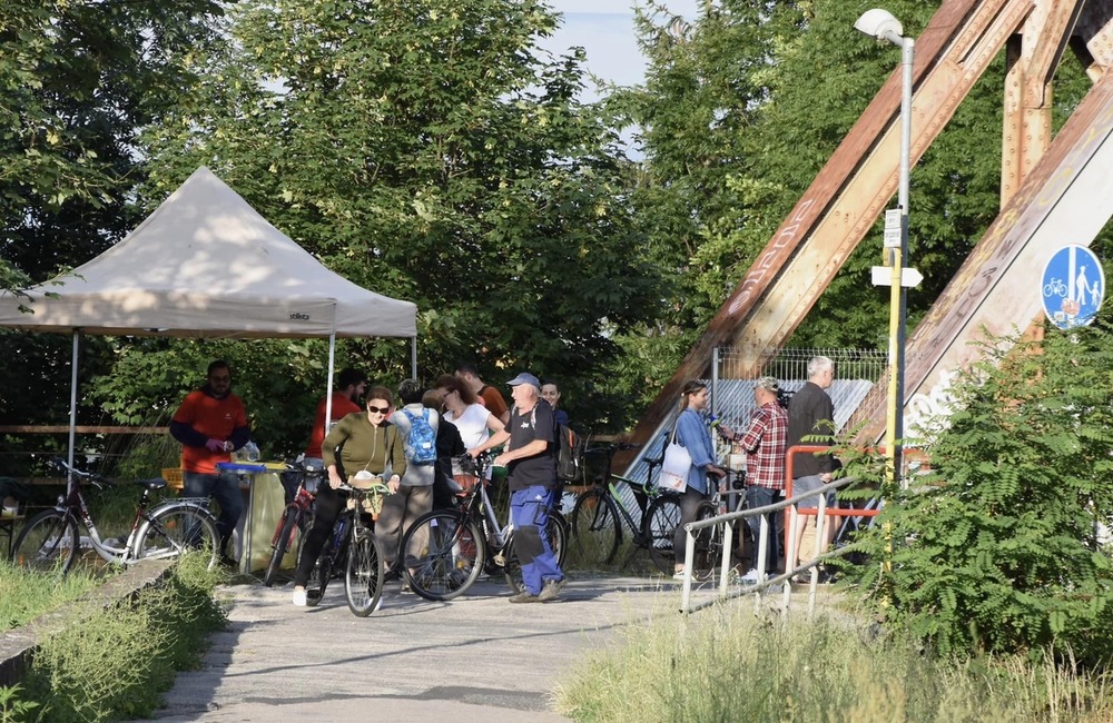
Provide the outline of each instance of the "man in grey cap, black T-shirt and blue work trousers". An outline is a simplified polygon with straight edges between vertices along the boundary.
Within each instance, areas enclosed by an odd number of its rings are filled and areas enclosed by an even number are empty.
[[[473,452],[479,454],[509,442],[505,450],[494,458],[494,466],[508,467],[510,473],[514,551],[525,583],[525,592],[510,602],[546,603],[564,586],[564,573],[544,534],[553,492],[559,489],[553,456],[556,426],[552,407],[541,398],[541,383],[535,376],[519,374],[510,380],[510,386],[514,398],[510,424]]]

